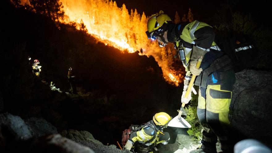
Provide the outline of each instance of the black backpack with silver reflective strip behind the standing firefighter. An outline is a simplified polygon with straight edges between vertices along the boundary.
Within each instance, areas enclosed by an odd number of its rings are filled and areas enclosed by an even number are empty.
[[[257,49],[246,38],[236,39],[217,36],[215,41],[221,51],[232,59],[235,72],[252,68],[260,61]]]

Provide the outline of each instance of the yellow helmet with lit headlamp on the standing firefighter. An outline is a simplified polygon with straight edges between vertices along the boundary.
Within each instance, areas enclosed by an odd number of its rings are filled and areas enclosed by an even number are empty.
[[[168,15],[164,14],[164,11],[159,11],[159,13],[151,15],[147,21],[146,34],[148,39],[157,39],[157,35],[164,30],[162,26],[164,23],[168,23],[168,21],[172,20]]]

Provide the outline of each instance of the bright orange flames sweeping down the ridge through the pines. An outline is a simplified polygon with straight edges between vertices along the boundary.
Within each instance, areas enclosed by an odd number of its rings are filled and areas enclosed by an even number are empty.
[[[181,78],[171,70],[171,61],[162,59],[165,48],[160,48],[156,42],[151,42],[145,34],[148,17],[143,12],[131,10],[130,14],[125,4],[118,7],[112,0],[60,0],[63,4],[66,18],[64,23],[71,21],[83,22],[89,34],[98,38],[105,45],[110,45],[130,53],[143,49],[145,55],[152,55],[163,70],[165,79],[176,86]],[[173,57],[167,57],[173,58]],[[175,73],[176,74],[176,73]]]

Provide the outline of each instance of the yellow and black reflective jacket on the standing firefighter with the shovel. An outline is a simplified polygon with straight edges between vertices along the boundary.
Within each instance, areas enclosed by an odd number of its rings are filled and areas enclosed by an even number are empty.
[[[206,52],[209,52],[210,49],[220,50],[220,48],[214,42],[215,33],[212,27],[204,22],[195,20],[191,23],[179,23],[172,30],[168,30],[168,32],[168,40],[169,37],[172,38],[172,41],[176,43],[177,49],[184,50],[186,61],[183,62],[183,65],[187,72],[187,76],[191,75],[188,68],[189,61],[197,60],[191,59],[193,45],[198,46]],[[169,42],[171,42],[171,39]],[[195,55],[194,57],[197,56],[198,55]]]

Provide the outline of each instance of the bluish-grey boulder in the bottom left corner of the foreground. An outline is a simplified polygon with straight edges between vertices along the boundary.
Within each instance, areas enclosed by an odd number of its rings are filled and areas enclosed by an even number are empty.
[[[41,118],[30,118],[24,121],[21,117],[10,113],[0,114],[0,152],[14,152],[15,145],[31,146],[30,139],[57,133],[57,129]],[[26,143],[26,144],[22,144]]]

